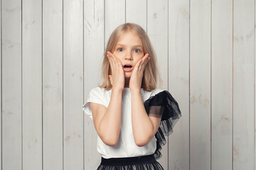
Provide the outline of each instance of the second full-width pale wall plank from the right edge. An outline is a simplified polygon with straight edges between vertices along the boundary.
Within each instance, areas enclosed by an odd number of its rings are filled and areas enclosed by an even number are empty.
[[[232,170],[233,1],[212,3],[211,169]]]

